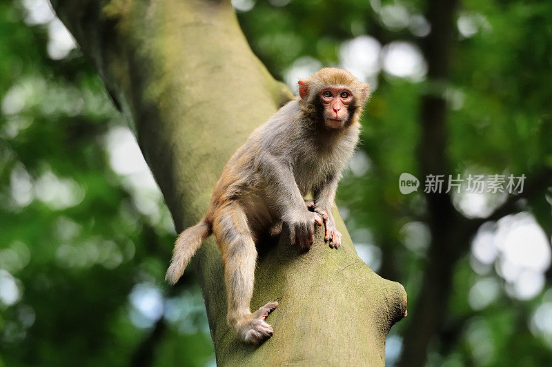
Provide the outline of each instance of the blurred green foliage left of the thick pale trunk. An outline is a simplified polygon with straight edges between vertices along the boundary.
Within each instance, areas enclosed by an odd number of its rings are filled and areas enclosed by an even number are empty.
[[[19,1],[0,4],[0,364],[125,366],[152,349],[154,363],[205,365],[198,287],[175,303],[164,285],[170,214],[157,188],[139,192],[110,166],[124,121],[81,53],[52,60],[48,23],[25,17]],[[168,332],[145,346],[159,326],[131,302],[137,284],[175,303],[157,322]]]

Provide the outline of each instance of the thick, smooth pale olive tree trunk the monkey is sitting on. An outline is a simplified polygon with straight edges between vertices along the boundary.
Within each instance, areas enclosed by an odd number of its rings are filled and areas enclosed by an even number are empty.
[[[253,55],[230,1],[52,0],[132,125],[177,230],[208,207],[222,167],[290,91]],[[279,300],[274,336],[255,348],[226,325],[221,253],[213,238],[193,259],[220,365],[384,365],[406,293],[360,260],[344,234],[339,250],[322,231],[299,255],[282,236],[255,273],[251,307]],[[172,247],[172,244],[167,244]],[[262,251],[263,252],[263,251]],[[168,259],[167,259],[168,262]]]

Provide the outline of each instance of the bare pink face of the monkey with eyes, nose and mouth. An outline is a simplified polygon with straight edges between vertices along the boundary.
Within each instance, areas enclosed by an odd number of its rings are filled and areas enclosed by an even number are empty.
[[[353,93],[345,88],[328,87],[319,93],[324,106],[327,127],[339,129],[349,118],[348,105],[353,102]]]

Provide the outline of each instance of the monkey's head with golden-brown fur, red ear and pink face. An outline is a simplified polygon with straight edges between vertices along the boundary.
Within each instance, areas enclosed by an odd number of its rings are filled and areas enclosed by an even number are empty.
[[[368,84],[346,70],[324,67],[299,81],[299,96],[307,116],[324,121],[328,129],[342,129],[358,121],[368,98]]]

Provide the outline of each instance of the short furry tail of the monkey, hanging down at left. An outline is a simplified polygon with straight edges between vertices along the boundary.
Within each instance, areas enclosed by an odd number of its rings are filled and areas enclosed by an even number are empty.
[[[211,233],[213,233],[211,225],[204,217],[195,226],[185,229],[178,235],[175,249],[172,250],[172,260],[165,275],[165,280],[169,284],[175,284],[180,279],[186,265],[201,246],[201,242]]]

